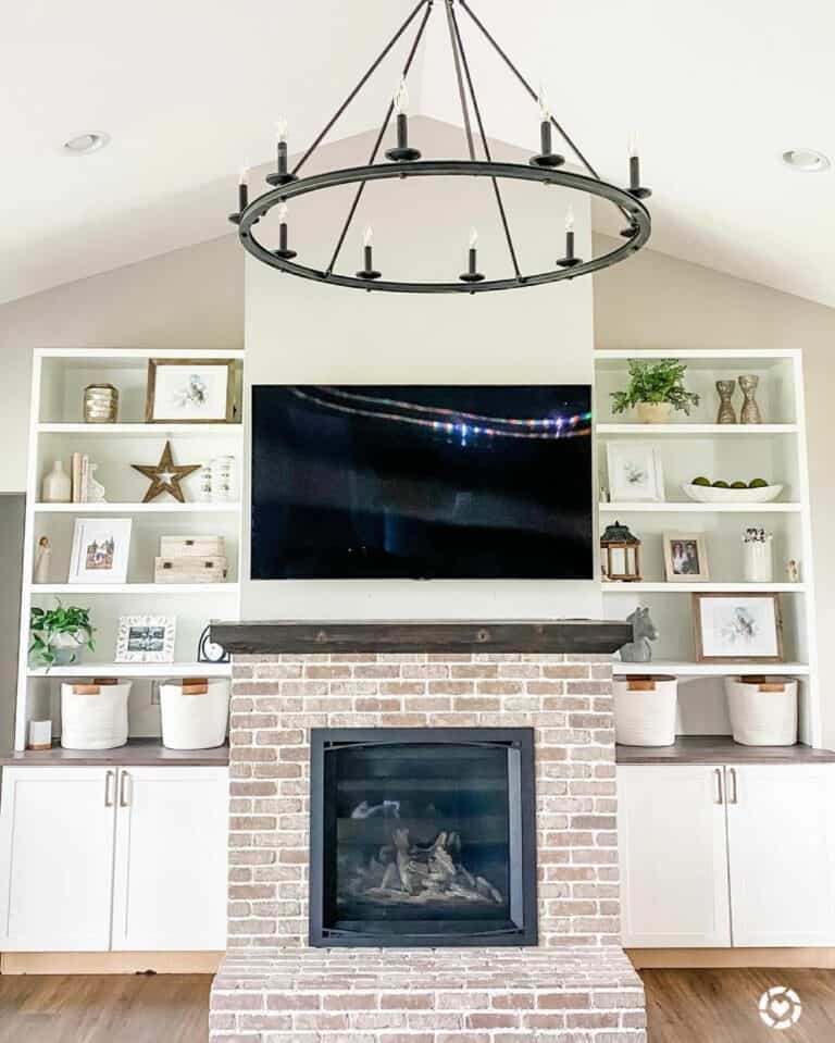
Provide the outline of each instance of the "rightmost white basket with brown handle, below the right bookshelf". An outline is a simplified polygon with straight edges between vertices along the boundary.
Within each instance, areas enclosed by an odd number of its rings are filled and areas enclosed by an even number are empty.
[[[794,746],[797,681],[788,678],[725,678],[734,742],[743,746]]]

